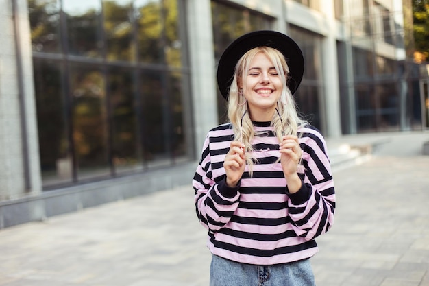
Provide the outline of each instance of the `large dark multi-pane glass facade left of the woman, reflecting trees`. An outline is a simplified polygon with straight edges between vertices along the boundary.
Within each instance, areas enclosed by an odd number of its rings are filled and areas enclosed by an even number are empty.
[[[45,189],[193,159],[183,5],[28,0]]]

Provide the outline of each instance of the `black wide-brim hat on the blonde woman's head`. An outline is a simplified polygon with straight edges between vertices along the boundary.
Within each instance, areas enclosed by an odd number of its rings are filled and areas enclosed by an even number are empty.
[[[267,46],[278,49],[289,66],[287,85],[294,94],[304,74],[304,56],[292,38],[280,32],[263,30],[250,32],[237,38],[223,51],[217,67],[217,85],[222,96],[228,99],[236,63],[247,51]]]

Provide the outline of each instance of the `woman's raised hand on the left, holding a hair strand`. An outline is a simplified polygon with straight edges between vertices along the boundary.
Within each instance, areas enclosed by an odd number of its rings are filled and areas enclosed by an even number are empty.
[[[230,151],[225,156],[223,168],[226,172],[226,184],[228,187],[236,187],[243,176],[246,167],[245,145],[239,141],[232,141]]]

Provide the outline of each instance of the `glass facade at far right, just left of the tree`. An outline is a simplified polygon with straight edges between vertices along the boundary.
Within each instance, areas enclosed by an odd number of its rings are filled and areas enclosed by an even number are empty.
[[[342,106],[356,110],[355,131],[389,132],[421,128],[415,118],[415,110],[420,104],[413,99],[413,93],[419,88],[415,86],[412,64],[397,60],[397,51],[405,48],[404,27],[395,22],[402,14],[397,15],[398,12],[373,0],[354,0],[350,4],[345,24],[351,36],[345,45],[351,49],[353,74],[352,80],[341,75],[339,78],[341,91],[345,91],[342,93]],[[339,61],[347,62],[344,57],[345,53],[342,56],[339,53]],[[352,103],[347,98],[350,88],[354,91]],[[347,112],[347,108],[343,110]],[[346,117],[342,116],[343,119]],[[347,124],[349,126],[343,124],[344,133],[351,132],[353,122]]]

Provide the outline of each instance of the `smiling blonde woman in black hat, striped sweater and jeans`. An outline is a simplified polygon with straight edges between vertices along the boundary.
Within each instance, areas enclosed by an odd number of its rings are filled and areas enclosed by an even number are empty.
[[[279,32],[245,34],[221,56],[230,123],[208,132],[193,178],[212,286],[315,285],[308,259],[335,194],[325,140],[292,97],[303,72],[301,50]]]

